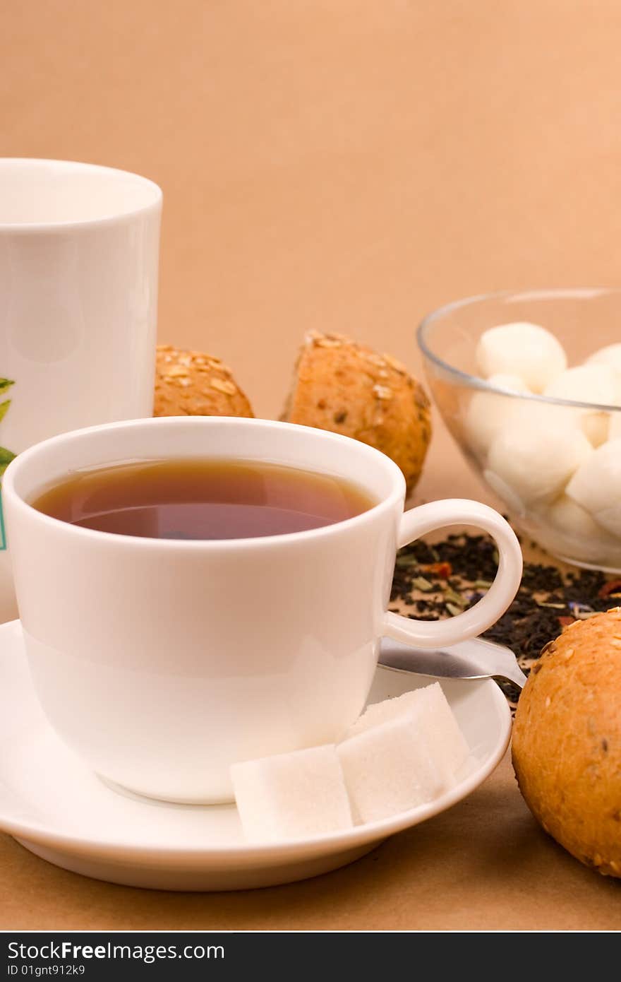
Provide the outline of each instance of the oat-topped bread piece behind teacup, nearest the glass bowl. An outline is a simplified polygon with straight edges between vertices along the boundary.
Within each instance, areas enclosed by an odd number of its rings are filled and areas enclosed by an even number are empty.
[[[309,332],[283,419],[368,443],[415,486],[431,439],[429,400],[403,365],[339,334]]]

